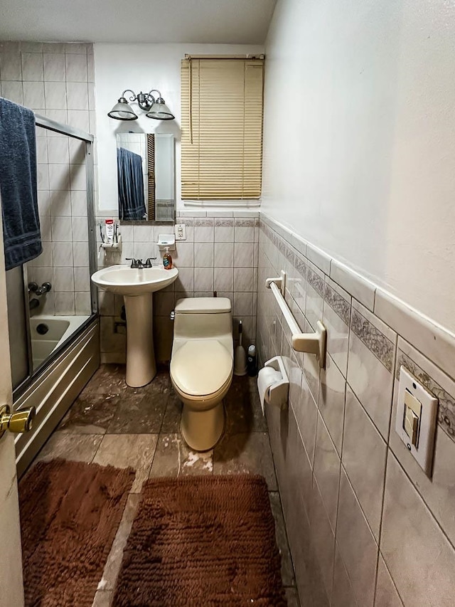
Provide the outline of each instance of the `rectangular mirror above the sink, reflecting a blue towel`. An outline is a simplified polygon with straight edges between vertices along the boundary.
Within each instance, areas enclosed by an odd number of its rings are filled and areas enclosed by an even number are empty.
[[[117,133],[117,184],[122,221],[174,221],[174,137]]]

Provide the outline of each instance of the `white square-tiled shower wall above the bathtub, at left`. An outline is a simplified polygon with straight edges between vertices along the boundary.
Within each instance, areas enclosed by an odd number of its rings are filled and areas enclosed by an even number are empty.
[[[1,96],[39,115],[95,132],[94,83],[92,44],[0,43]],[[53,285],[37,312],[90,314],[85,144],[40,127],[36,135],[43,253],[28,280]]]

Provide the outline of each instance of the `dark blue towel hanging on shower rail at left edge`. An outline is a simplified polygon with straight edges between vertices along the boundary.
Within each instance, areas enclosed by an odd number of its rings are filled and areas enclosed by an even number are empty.
[[[0,193],[6,270],[43,252],[36,191],[35,115],[0,97]]]

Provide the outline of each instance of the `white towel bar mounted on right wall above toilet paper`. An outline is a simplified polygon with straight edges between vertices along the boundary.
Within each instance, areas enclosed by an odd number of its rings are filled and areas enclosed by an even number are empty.
[[[279,287],[277,286],[279,284]],[[272,290],[275,299],[278,302],[280,310],[283,312],[283,316],[286,319],[289,329],[291,329],[291,345],[296,352],[308,352],[309,354],[316,354],[319,358],[319,366],[321,369],[326,368],[326,352],[327,352],[327,329],[324,327],[322,322],[318,320],[316,322],[316,331],[314,333],[302,333],[299,325],[297,324],[291,310],[287,305],[286,300],[283,297],[282,291],[284,291],[284,285],[286,285],[286,273],[282,272],[278,278],[267,278],[265,286]]]

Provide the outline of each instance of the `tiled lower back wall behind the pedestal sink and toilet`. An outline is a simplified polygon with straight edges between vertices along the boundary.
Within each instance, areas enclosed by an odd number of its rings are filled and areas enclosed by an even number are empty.
[[[178,278],[173,285],[154,294],[154,342],[159,361],[171,358],[173,326],[170,313],[181,297],[213,297],[213,291],[218,297],[229,297],[236,342],[238,320],[242,320],[243,344],[255,343],[259,213],[221,211],[215,217],[207,214],[195,211],[176,219],[177,223],[186,225],[186,241],[177,241],[176,250],[171,251]],[[103,217],[97,219],[98,223],[103,221]],[[162,253],[155,243],[159,234],[172,233],[173,225],[123,223],[120,231],[122,253],[101,256],[100,267],[128,263],[126,258],[131,257],[143,260],[156,257],[154,263],[161,265]],[[124,362],[124,330],[117,327],[115,332],[122,297],[107,292],[99,292],[99,295],[102,360]]]

